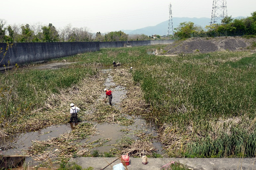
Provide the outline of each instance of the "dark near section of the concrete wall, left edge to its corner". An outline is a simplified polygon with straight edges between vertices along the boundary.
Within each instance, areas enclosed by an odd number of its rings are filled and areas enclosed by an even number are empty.
[[[0,48],[5,50],[6,43],[0,43]],[[0,67],[3,65],[14,66],[16,63],[22,65],[99,50],[99,42],[14,43],[4,58],[3,52],[0,53]]]

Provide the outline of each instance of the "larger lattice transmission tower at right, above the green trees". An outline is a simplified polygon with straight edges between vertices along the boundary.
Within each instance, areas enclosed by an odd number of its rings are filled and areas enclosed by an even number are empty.
[[[218,20],[221,21],[224,17],[227,17],[227,16],[228,16],[227,1],[213,0],[211,25],[217,22]]]

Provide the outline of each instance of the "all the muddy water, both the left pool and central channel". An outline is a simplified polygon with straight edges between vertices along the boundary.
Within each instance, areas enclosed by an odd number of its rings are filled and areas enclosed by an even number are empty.
[[[104,71],[105,73],[108,73],[110,69],[103,69],[102,71]],[[126,98],[126,93],[127,93],[126,88],[123,86],[115,85],[110,74],[108,75],[108,78],[106,79],[106,82],[104,85],[112,91],[113,107],[121,109],[120,102],[122,102],[122,100]],[[102,95],[99,97],[97,102],[104,99],[105,97],[106,97],[106,94],[103,91]],[[93,110],[88,110],[86,112],[93,113]],[[95,136],[92,136],[89,141],[88,139],[85,139],[85,140],[79,141],[79,143],[89,143],[97,139],[109,138],[110,140],[104,143],[103,146],[95,147],[91,150],[92,152],[93,150],[97,150],[99,153],[104,153],[104,152],[110,152],[110,150],[113,148],[113,145],[117,144],[118,141],[123,136],[136,139],[136,136],[134,135],[135,131],[142,131],[146,134],[152,134],[153,136],[157,135],[153,126],[148,125],[146,123],[146,120],[142,119],[140,116],[134,116],[134,117],[127,116],[127,119],[134,119],[135,122],[130,126],[121,126],[119,124],[110,124],[110,123],[97,124],[95,122],[91,122],[95,124],[95,128],[98,130],[97,132],[98,134]],[[86,121],[84,120],[79,123],[84,123],[84,122]],[[41,129],[40,131],[37,131],[37,132],[21,134],[17,136],[15,139],[15,142],[13,142],[12,146],[14,148],[6,151],[2,151],[1,154],[2,155],[17,155],[17,154],[23,155],[22,150],[29,149],[29,147],[32,146],[33,141],[48,140],[53,137],[58,137],[65,133],[69,133],[72,131],[75,125],[76,124],[73,124],[73,123],[68,123],[68,124],[59,125],[59,126],[55,125],[45,129]],[[159,154],[163,154],[161,143],[156,141],[156,142],[153,142],[153,145],[158,149]],[[39,164],[39,162],[33,160],[31,157],[27,158],[25,162],[30,166],[35,166]]]

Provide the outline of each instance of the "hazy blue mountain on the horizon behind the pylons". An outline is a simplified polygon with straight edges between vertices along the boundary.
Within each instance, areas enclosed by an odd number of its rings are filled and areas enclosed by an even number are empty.
[[[236,18],[244,18],[244,17],[236,17]],[[177,28],[180,23],[182,22],[193,22],[195,25],[200,25],[203,29],[206,25],[210,25],[211,18],[207,17],[201,17],[201,18],[189,18],[189,17],[173,17],[172,23],[173,23],[173,29]],[[157,35],[167,35],[168,32],[168,23],[169,20],[161,22],[160,24],[157,24],[156,26],[150,26],[145,27],[137,30],[121,30],[126,34],[145,34],[147,36],[151,36],[153,34]]]

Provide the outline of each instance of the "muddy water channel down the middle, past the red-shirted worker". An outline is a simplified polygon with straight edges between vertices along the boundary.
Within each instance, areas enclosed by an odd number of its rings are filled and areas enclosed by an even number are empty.
[[[111,69],[103,69],[102,71],[105,73],[108,73]],[[118,109],[121,109],[120,102],[122,102],[123,99],[126,98],[127,90],[123,86],[116,86],[115,83],[112,80],[112,76],[109,74],[108,78],[106,79],[106,82],[104,84],[106,88],[110,89],[112,91],[112,105],[113,107],[116,107]],[[101,95],[100,99],[105,98],[106,95],[103,93]],[[92,111],[89,111],[89,113]],[[153,136],[157,136],[157,133],[155,132],[155,129],[146,123],[146,120],[142,119],[140,116],[126,116],[127,119],[134,119],[134,123],[130,126],[121,126],[119,124],[113,123],[104,123],[104,124],[97,124],[96,128],[99,130],[98,134],[96,136],[91,137],[91,141],[97,140],[97,139],[104,139],[104,138],[110,138],[111,140],[104,144],[104,146],[101,147],[95,147],[92,149],[97,150],[99,153],[104,152],[110,152],[111,148],[113,148],[113,145],[117,144],[120,139],[123,136],[127,136],[131,139],[136,139],[137,137],[134,135],[135,131],[141,131],[146,134],[152,134]],[[82,141],[81,143],[85,142],[86,140]],[[162,154],[162,145],[159,142],[153,142],[153,145],[158,149],[158,153]]]

